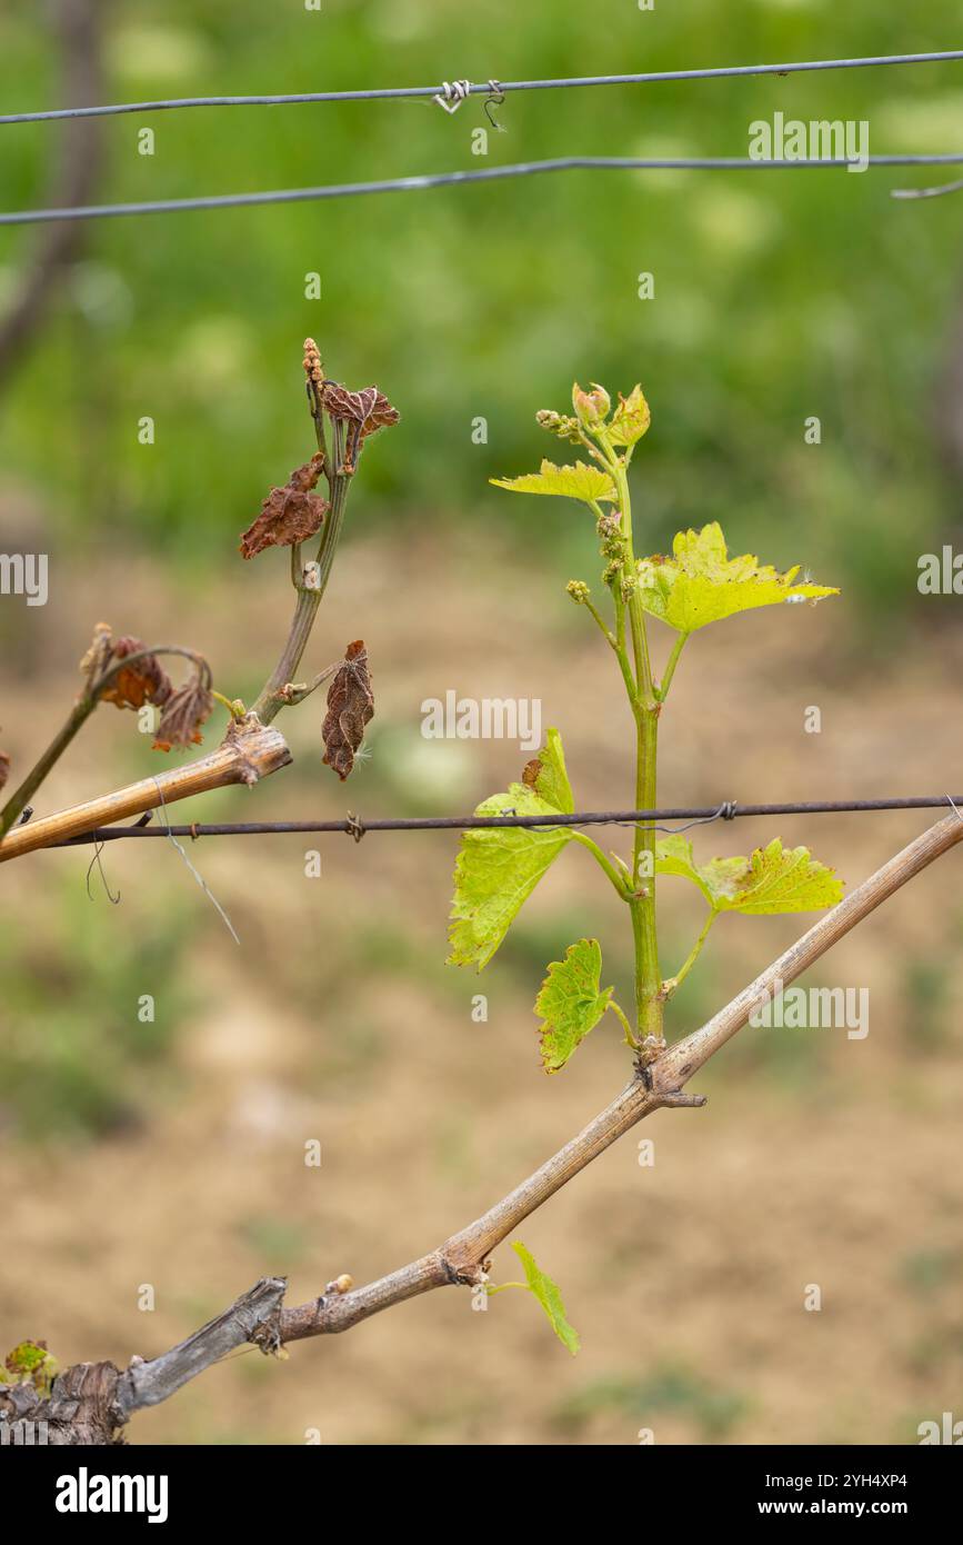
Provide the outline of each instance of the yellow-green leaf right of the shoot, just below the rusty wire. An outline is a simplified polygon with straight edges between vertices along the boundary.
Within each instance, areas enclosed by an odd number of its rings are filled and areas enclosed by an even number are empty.
[[[782,912],[819,912],[843,899],[835,870],[813,859],[809,848],[784,848],[779,837],[750,857],[710,859],[696,864],[691,842],[679,834],[656,844],[656,874],[681,874],[699,887],[715,912],[767,916]]]

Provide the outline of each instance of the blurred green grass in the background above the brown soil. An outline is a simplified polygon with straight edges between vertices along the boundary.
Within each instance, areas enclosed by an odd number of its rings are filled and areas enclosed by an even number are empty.
[[[921,51],[958,43],[954,0],[525,5],[284,0],[100,5],[108,100],[201,93],[528,79]],[[9,110],[62,99],[56,34],[0,20]],[[963,144],[958,65],[787,79],[512,94],[482,100],[198,110],[99,125],[102,199],[298,187],[586,154],[744,154],[748,124],[863,119],[870,150]],[[156,153],[137,154],[151,127]],[[3,130],[5,207],[49,198],[65,130]],[[948,320],[960,300],[963,201],[898,204],[940,173],[563,173],[284,210],[100,222],[60,273],[6,396],[0,457],[45,496],[76,550],[144,542],[171,561],[233,547],[252,490],[302,459],[298,345],[377,380],[406,433],[366,467],[366,521],[519,522],[485,490],[548,451],[532,426],[573,377],[642,380],[653,547],[738,510],[756,541],[806,521],[807,556],[880,610],[912,601],[921,544],[958,521],[937,434]],[[0,233],[0,304],[42,239]],[[321,298],[306,300],[306,273]],[[654,301],[637,298],[651,272]],[[66,405],[69,403],[69,411]],[[137,419],[156,419],[154,451]],[[823,450],[802,423],[823,420]],[[472,445],[483,416],[488,445]],[[772,542],[770,542],[772,545]],[[928,548],[929,550],[929,548]],[[772,553],[775,559],[781,552]],[[932,609],[931,609],[932,610]]]

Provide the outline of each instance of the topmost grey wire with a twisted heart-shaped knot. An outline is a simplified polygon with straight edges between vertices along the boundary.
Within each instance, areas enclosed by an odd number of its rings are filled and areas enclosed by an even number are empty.
[[[870,54],[863,59],[806,59],[784,65],[718,65],[708,70],[650,70],[642,74],[573,76],[557,80],[498,80],[485,85],[465,82],[469,96],[498,91],[554,91],[566,87],[651,85],[659,80],[719,80],[741,76],[793,76],[816,70],[866,70],[877,65],[932,65],[963,59],[952,48],[929,54]],[[377,87],[361,91],[296,91],[270,96],[168,97],[154,102],[113,102],[103,107],[60,107],[39,113],[3,113],[3,124],[42,124],[65,117],[116,117],[120,113],[162,113],[187,107],[286,107],[306,102],[378,102],[401,97],[437,97],[444,87]]]

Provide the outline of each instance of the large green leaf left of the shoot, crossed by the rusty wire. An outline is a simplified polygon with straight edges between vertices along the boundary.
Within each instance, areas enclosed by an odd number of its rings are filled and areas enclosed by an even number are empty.
[[[483,800],[477,816],[566,816],[576,808],[562,737],[549,729],[522,783]],[[502,944],[522,904],[571,840],[568,827],[482,827],[461,833],[455,861],[455,896],[451,910],[451,966],[478,970]]]

